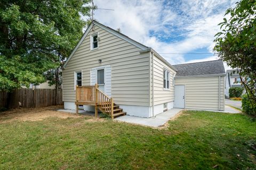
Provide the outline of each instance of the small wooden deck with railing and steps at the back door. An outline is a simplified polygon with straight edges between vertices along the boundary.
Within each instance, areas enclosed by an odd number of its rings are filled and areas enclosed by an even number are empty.
[[[98,116],[98,110],[108,114],[112,119],[116,116],[126,115],[123,109],[119,108],[106,94],[101,92],[98,84],[94,86],[76,86],[76,113],[78,114],[79,105],[89,105],[95,107],[95,116]]]

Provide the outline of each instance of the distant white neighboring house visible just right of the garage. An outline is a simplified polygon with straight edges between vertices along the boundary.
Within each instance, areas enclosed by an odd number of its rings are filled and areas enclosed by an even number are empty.
[[[242,78],[243,80],[245,80],[245,77],[242,77]],[[236,69],[227,70],[226,91],[225,91],[225,95],[227,98],[229,97],[229,88],[231,87],[240,87],[240,88],[244,87]]]

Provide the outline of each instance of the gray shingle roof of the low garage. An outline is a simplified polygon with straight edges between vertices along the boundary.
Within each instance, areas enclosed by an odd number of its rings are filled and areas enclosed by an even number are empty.
[[[177,64],[173,66],[178,70],[176,77],[226,74],[221,60]]]

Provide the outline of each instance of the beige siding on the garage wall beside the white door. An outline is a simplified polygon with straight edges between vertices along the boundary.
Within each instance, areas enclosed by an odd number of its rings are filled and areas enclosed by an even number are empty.
[[[187,109],[224,109],[225,76],[183,77],[175,78],[175,85],[185,85],[185,108]]]

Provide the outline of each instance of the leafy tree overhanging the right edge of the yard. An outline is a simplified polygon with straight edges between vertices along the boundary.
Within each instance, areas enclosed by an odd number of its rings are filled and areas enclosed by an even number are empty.
[[[230,18],[219,23],[222,30],[215,35],[214,51],[228,66],[237,69],[256,112],[256,1],[242,0],[225,15]]]

